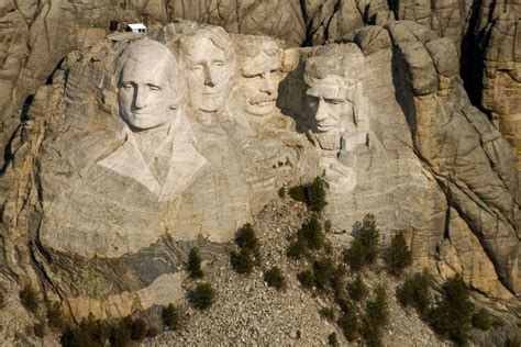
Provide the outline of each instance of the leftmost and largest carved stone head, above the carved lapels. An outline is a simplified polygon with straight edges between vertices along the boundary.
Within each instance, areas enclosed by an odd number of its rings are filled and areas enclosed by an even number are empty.
[[[131,130],[170,123],[185,90],[170,51],[152,40],[140,40],[123,52],[119,64],[120,115]]]

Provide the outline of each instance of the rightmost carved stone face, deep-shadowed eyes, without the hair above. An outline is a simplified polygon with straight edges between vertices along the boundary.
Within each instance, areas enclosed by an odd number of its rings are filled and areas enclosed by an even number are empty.
[[[312,78],[306,93],[310,113],[315,120],[313,132],[339,134],[342,131],[342,117],[350,103],[341,77],[330,75],[322,79]]]

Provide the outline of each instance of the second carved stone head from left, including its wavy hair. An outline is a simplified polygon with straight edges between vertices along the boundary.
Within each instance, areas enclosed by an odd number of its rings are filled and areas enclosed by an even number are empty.
[[[213,112],[224,105],[235,69],[233,54],[222,27],[201,29],[181,40],[181,61],[193,108]]]

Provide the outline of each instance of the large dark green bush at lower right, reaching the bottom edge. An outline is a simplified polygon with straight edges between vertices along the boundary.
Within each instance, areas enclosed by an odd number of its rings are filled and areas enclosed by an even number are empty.
[[[435,332],[457,344],[464,344],[470,327],[473,303],[468,288],[459,276],[443,284],[443,299],[430,313],[430,323]]]

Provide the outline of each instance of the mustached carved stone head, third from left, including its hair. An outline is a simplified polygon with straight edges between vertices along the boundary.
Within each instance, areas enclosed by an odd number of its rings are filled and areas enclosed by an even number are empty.
[[[246,57],[241,61],[237,97],[243,110],[254,116],[263,116],[277,110],[278,83],[280,82],[281,51],[277,42],[256,38],[243,48]]]

